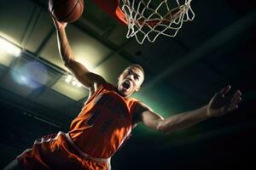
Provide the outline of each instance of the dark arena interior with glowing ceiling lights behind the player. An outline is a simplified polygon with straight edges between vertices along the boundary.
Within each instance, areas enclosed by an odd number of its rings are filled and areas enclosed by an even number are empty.
[[[107,1],[106,1],[107,2]],[[0,3],[0,168],[49,133],[67,133],[88,90],[71,76],[57,50],[47,0]],[[163,117],[206,105],[230,84],[236,111],[164,134],[140,123],[112,158],[113,170],[256,169],[255,0],[193,0],[195,19],[176,37],[139,44],[93,0],[67,25],[73,54],[116,84],[127,65],[145,71],[133,96]],[[9,42],[20,53],[9,53]]]

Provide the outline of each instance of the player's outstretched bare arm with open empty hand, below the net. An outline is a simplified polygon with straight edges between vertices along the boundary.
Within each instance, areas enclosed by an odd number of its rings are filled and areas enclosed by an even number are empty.
[[[226,96],[230,91],[230,86],[223,88],[215,94],[208,105],[205,105],[195,111],[187,111],[166,119],[152,111],[147,105],[140,104],[137,111],[141,112],[141,121],[144,125],[156,129],[163,133],[171,133],[190,127],[197,122],[202,122],[213,116],[221,116],[235,110],[241,101],[241,92],[239,90],[232,96]]]

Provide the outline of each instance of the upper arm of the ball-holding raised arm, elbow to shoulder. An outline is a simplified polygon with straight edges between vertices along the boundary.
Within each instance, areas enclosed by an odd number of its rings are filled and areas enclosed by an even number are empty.
[[[91,88],[95,83],[104,83],[103,77],[90,72],[84,65],[76,60],[70,60],[66,65],[69,71],[72,71],[73,75],[78,79],[79,82],[84,84],[85,87]]]

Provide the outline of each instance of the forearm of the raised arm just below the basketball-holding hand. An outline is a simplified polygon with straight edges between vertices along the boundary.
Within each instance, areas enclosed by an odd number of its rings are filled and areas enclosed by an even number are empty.
[[[68,65],[70,60],[75,60],[73,57],[72,49],[70,48],[69,42],[67,40],[67,34],[65,28],[56,29],[58,49],[65,65]]]

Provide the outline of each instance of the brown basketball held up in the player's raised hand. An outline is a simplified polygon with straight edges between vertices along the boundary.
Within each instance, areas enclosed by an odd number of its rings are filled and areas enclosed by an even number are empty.
[[[49,12],[61,22],[78,20],[83,11],[84,0],[49,0]]]

